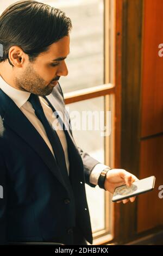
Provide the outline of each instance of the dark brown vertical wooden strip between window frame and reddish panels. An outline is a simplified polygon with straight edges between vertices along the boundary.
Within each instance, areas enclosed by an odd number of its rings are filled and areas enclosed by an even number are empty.
[[[121,166],[139,176],[142,0],[123,1]],[[116,157],[116,156],[115,156]],[[136,203],[120,204],[120,244],[134,239]]]

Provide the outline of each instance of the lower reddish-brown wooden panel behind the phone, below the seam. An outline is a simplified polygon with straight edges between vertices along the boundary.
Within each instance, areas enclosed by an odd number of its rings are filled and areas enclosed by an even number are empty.
[[[137,198],[137,231],[145,231],[163,224],[163,199],[158,187],[163,185],[163,136],[141,141],[140,179],[155,175],[153,191]]]

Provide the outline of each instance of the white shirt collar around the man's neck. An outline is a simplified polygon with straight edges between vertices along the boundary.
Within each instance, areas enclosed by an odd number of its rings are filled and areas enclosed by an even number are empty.
[[[3,90],[5,94],[7,94],[11,100],[15,102],[18,108],[21,108],[24,103],[29,99],[30,93],[24,92],[22,90],[18,90],[12,86],[10,86],[7,82],[4,81],[2,76],[0,75],[0,88]]]

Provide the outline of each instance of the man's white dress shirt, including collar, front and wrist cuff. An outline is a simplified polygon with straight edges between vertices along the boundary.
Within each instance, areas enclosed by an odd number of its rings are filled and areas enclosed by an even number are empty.
[[[18,108],[23,112],[24,115],[28,118],[30,123],[35,127],[37,132],[40,133],[41,137],[44,139],[46,144],[48,145],[49,149],[52,151],[52,154],[54,156],[54,152],[51,146],[51,143],[49,142],[49,139],[46,135],[46,131],[41,123],[41,121],[36,117],[34,109],[30,102],[28,101],[30,93],[29,92],[24,92],[22,90],[18,90],[12,86],[10,86],[7,82],[4,81],[2,76],[0,75],[0,88],[3,90],[5,94],[7,94],[11,100],[15,102]],[[46,118],[49,122],[49,124],[53,127],[55,125],[59,124],[59,122],[55,121],[55,116],[53,115],[52,108],[49,107],[48,102],[43,99],[42,97],[39,96],[43,112],[46,115]],[[60,125],[60,124],[59,124]],[[67,172],[69,175],[69,161],[68,161],[68,150],[67,150],[67,141],[66,141],[66,136],[64,133],[64,130],[58,129],[58,127],[55,127],[55,130],[58,134],[58,137],[60,139],[60,142],[62,144],[62,148],[64,149],[65,153],[65,160],[66,160],[66,167],[67,167]],[[54,156],[55,157],[55,156]],[[98,178],[100,173],[102,172],[103,169],[105,169],[107,166],[105,166],[102,163],[96,164],[96,166],[93,168],[91,174],[90,174],[90,183],[97,185]]]

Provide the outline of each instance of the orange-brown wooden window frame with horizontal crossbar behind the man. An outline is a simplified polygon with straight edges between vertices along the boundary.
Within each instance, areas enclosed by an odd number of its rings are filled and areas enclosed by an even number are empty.
[[[70,104],[83,100],[104,96],[105,111],[110,108],[110,95],[112,95],[112,139],[105,137],[105,164],[120,168],[121,146],[121,44],[122,44],[122,0],[104,1],[104,84],[86,89],[65,93],[65,103]],[[114,14],[110,22],[111,4],[114,3]],[[111,27],[112,26],[112,29]],[[111,34],[112,33],[112,34]],[[111,49],[113,61],[110,60],[110,39],[112,37],[113,48]],[[113,65],[112,77],[111,68]],[[111,81],[111,83],[110,83]],[[112,148],[111,161],[109,148]],[[115,157],[116,156],[116,157]],[[96,233],[93,244],[104,245],[117,240],[120,222],[120,207],[118,204],[111,206],[110,193],[105,192],[105,230]],[[110,209],[110,210],[109,210]],[[110,215],[110,216],[109,216]],[[109,216],[109,217],[108,217]],[[111,220],[111,225],[110,225]],[[94,237],[94,236],[93,236]]]

